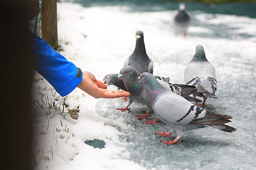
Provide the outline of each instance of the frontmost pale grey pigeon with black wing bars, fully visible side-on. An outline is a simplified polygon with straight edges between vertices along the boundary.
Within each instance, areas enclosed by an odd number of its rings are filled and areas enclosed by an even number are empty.
[[[174,141],[161,141],[167,143],[167,145],[179,143],[179,139],[183,137],[185,130],[209,126],[229,133],[236,131],[235,128],[224,125],[230,122],[229,119],[233,118],[232,116],[216,114],[193,105],[184,97],[166,90],[150,73],[142,73],[137,82],[144,87],[154,113],[160,120],[174,129],[170,132],[164,131],[164,133],[158,134],[171,136],[171,133],[177,133]]]

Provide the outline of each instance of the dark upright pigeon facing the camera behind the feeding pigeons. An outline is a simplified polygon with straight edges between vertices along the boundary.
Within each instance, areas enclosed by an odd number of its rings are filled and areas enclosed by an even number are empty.
[[[147,56],[142,31],[136,32],[136,46],[134,52],[128,57],[123,66],[132,66],[138,73],[153,74],[153,62]]]

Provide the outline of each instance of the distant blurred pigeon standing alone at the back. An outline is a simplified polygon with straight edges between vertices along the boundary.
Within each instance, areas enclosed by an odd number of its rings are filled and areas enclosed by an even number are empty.
[[[187,29],[191,23],[191,15],[185,11],[185,4],[180,3],[178,13],[174,16],[175,35],[178,32],[183,32],[184,37],[187,36]]]

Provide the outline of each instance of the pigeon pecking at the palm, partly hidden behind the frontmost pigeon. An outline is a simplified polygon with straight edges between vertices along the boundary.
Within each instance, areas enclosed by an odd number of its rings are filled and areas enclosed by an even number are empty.
[[[125,66],[120,70],[118,78],[123,80],[126,90],[130,92],[131,97],[133,97],[133,99],[139,101],[142,104],[147,105],[147,112],[143,116],[141,116],[141,118],[145,118],[147,116],[151,116],[152,108],[150,107],[148,96],[144,91],[142,84],[137,82],[139,75],[140,74],[133,67]],[[172,85],[171,83],[164,82],[162,80],[163,78],[159,76],[154,76],[154,78],[158,82],[163,84],[164,88],[166,88],[168,91],[175,92],[179,95],[188,96],[196,91],[195,86],[187,86],[187,85],[180,84],[180,86],[185,86],[184,88],[180,88],[175,85]],[[170,80],[170,78],[169,79],[166,78],[166,79]],[[121,111],[127,111],[130,104],[131,103],[129,102],[125,108],[121,108],[122,109]],[[154,121],[157,121],[157,120],[154,120]],[[154,124],[155,123],[154,121],[153,122],[147,121],[147,122]]]

